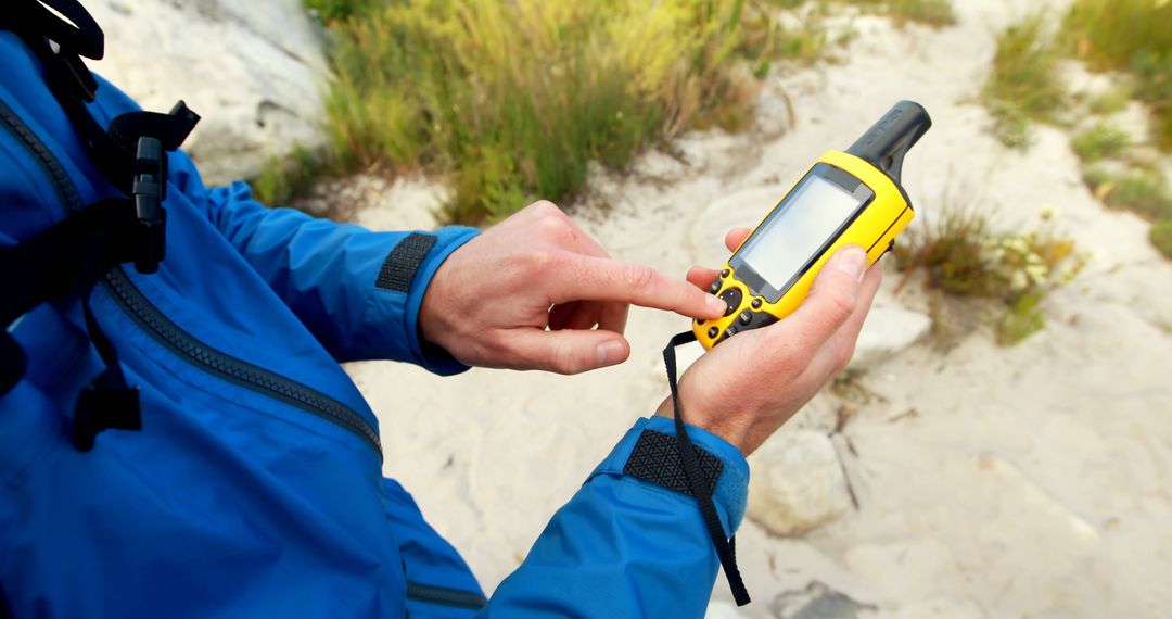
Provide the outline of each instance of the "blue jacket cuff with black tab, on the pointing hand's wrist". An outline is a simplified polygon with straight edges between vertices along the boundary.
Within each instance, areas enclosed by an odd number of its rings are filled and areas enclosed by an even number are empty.
[[[389,250],[363,318],[367,333],[376,340],[373,346],[386,352],[381,356],[413,361],[443,376],[468,369],[448,351],[420,336],[418,315],[423,294],[440,265],[478,233],[466,226],[413,232]],[[397,325],[401,331],[388,328],[389,325]]]

